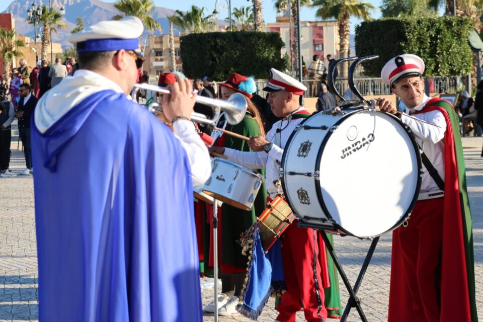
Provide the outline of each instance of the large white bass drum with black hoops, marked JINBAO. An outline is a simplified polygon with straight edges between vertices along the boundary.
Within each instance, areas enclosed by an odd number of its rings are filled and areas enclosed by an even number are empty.
[[[421,156],[411,130],[391,114],[317,113],[291,134],[280,173],[297,217],[366,238],[409,217],[421,186]]]

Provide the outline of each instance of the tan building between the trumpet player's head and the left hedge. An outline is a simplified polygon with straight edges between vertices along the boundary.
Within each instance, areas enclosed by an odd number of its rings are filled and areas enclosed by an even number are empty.
[[[149,35],[147,46],[144,49],[144,56],[146,61],[144,62],[143,70],[146,70],[151,76],[174,70],[181,71],[180,37],[175,36],[176,66],[171,66],[170,35]]]

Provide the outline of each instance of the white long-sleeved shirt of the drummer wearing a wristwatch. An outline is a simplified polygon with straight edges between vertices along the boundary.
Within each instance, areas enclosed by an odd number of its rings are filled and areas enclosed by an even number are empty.
[[[292,112],[296,113],[302,108]],[[282,193],[281,187],[276,186],[275,183],[280,179],[279,171],[282,162],[283,149],[287,144],[290,134],[292,134],[295,127],[300,124],[304,119],[282,119],[275,122],[272,129],[268,131],[265,139],[274,143],[272,149],[267,153],[265,151],[260,152],[242,152],[235,149],[225,148],[223,153],[229,160],[240,164],[250,169],[265,169],[265,185],[271,198],[274,198],[277,193]],[[280,145],[275,144],[275,137],[277,130],[280,132]],[[277,163],[278,162],[278,163]]]

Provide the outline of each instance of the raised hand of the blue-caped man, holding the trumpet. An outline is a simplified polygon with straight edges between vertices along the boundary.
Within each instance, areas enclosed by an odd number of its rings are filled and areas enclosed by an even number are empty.
[[[165,117],[170,122],[176,116],[184,116],[191,119],[193,106],[196,102],[196,94],[193,94],[193,86],[190,79],[181,79],[179,74],[176,74],[178,82],[168,86],[171,94],[163,95],[163,112]]]

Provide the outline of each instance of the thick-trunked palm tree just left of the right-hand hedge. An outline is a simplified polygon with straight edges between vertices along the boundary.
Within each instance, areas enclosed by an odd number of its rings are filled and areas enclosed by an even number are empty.
[[[318,8],[315,16],[321,19],[337,19],[339,29],[339,55],[341,58],[349,54],[349,19],[356,17],[368,20],[374,6],[360,0],[314,0],[312,7]],[[342,64],[342,75],[347,76],[347,63]]]

